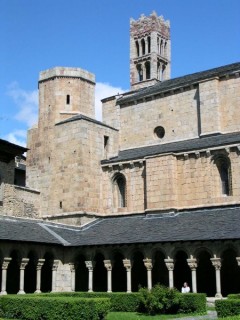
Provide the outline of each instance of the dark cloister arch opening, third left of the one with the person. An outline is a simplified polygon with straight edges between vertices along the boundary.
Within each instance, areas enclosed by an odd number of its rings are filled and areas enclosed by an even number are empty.
[[[127,291],[127,273],[123,265],[124,255],[118,250],[112,253],[112,291]]]

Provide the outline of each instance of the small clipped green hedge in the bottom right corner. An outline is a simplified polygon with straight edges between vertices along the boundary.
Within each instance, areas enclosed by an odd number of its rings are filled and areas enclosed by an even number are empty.
[[[240,315],[240,299],[216,300],[215,308],[219,318]]]

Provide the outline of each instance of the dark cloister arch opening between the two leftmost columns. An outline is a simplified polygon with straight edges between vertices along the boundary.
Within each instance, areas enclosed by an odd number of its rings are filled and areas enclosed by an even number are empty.
[[[20,284],[20,260],[21,256],[18,250],[13,250],[10,253],[10,261],[7,270],[7,285],[6,291],[7,293],[16,294],[19,291],[19,284]]]

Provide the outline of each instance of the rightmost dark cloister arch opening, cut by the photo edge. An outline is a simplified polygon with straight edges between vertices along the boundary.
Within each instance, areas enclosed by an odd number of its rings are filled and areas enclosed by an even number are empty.
[[[233,247],[226,248],[221,254],[221,289],[224,297],[240,292],[240,268],[236,257]]]

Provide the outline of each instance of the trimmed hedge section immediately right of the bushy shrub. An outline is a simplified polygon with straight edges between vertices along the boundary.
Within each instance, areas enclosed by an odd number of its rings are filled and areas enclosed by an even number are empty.
[[[206,313],[206,294],[205,293],[180,294],[178,312]]]

